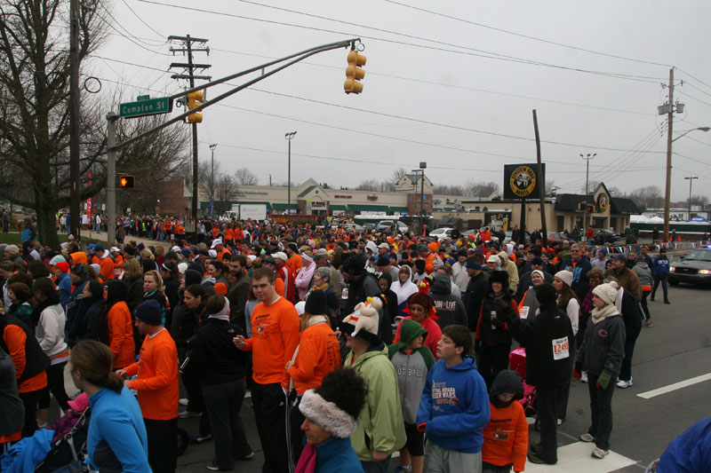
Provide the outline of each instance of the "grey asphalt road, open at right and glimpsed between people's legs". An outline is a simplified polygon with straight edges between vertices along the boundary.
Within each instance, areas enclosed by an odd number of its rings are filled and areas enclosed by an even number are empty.
[[[711,415],[711,380],[672,390],[651,398],[638,395],[711,373],[711,289],[677,286],[669,288],[670,305],[650,303],[653,327],[643,327],[633,358],[634,385],[627,390],[616,390],[612,399],[614,427],[611,435],[611,450],[626,457],[628,466],[616,469],[612,456],[589,464],[592,447],[583,445],[573,452],[578,436],[587,432],[589,424],[589,398],[587,384],[573,381],[568,406],[567,421],[558,430],[560,469],[569,471],[625,471],[639,473],[693,422]],[[68,379],[68,384],[71,381]],[[69,386],[68,386],[69,387]],[[71,386],[71,388],[74,388]],[[254,452],[252,461],[240,461],[236,471],[261,471],[263,455],[254,423],[250,399],[245,399],[242,409],[247,435]],[[198,419],[180,419],[181,428],[195,434]],[[531,428],[531,442],[537,441],[538,433]],[[563,447],[566,447],[563,449]],[[582,453],[580,453],[582,452]],[[212,459],[212,441],[189,445],[186,453],[178,458],[178,471],[206,471],[205,464]],[[571,458],[571,455],[573,458]],[[575,458],[582,456],[583,458]],[[567,463],[566,463],[567,462]],[[393,460],[390,470],[397,464]],[[570,468],[564,465],[570,465]],[[526,465],[527,471],[550,471]]]

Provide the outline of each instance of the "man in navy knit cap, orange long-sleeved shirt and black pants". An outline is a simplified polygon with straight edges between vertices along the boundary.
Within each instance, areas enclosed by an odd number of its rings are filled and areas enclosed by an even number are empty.
[[[148,433],[148,463],[154,473],[174,472],[178,452],[178,350],[162,325],[161,305],[148,300],[136,308],[136,327],[146,335],[139,361],[116,371],[122,376],[138,374],[124,384],[138,391],[140,411]]]

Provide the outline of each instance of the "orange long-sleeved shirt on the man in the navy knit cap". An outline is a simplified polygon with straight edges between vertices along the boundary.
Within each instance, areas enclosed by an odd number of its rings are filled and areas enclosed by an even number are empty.
[[[146,335],[140,347],[140,361],[124,369],[129,376],[139,375],[129,383],[129,389],[138,391],[143,417],[153,421],[178,417],[178,350],[168,330],[152,337]]]

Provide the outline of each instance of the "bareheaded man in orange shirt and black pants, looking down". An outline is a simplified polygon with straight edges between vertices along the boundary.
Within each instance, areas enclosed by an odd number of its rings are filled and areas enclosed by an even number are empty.
[[[264,449],[262,471],[293,471],[289,447],[289,374],[286,364],[299,344],[299,314],[276,294],[276,274],[252,272],[252,292],[261,302],[252,311],[252,338],[237,335],[235,345],[252,351],[252,404]]]

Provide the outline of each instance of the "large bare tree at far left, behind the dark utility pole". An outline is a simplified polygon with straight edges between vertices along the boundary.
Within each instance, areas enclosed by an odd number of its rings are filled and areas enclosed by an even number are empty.
[[[69,204],[69,47],[68,15],[65,0],[43,2],[2,2],[0,4],[0,162],[3,185],[0,197],[36,210],[40,240],[59,247],[55,212]],[[96,2],[80,2],[78,57],[84,59],[99,47],[105,23]],[[106,186],[105,112],[114,104],[100,103],[82,95],[80,123],[81,193],[84,201]],[[120,143],[126,136],[148,130],[162,119],[148,117],[119,123]],[[175,132],[175,130],[172,130]],[[180,131],[166,140],[159,134],[122,148],[117,169],[134,169],[140,162],[160,156],[182,157]],[[177,141],[175,141],[177,139]],[[161,149],[162,148],[162,149]],[[92,169],[92,185],[87,171]],[[154,173],[151,167],[148,174]],[[159,171],[160,172],[160,171]],[[170,169],[167,172],[170,174]],[[11,178],[11,180],[5,179]],[[144,176],[137,176],[143,178]],[[73,216],[77,217],[77,216]]]

